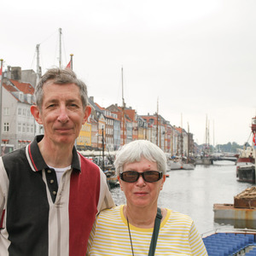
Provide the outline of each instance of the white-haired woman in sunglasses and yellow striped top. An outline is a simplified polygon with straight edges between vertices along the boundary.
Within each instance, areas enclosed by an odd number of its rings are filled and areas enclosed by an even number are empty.
[[[166,181],[166,155],[159,147],[128,143],[114,166],[126,205],[99,214],[87,255],[207,255],[189,216],[157,206]]]

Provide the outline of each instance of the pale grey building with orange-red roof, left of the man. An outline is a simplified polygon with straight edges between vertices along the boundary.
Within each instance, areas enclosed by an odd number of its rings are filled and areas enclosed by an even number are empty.
[[[30,112],[31,84],[3,78],[2,146],[5,153],[31,143],[35,134],[35,120]]]

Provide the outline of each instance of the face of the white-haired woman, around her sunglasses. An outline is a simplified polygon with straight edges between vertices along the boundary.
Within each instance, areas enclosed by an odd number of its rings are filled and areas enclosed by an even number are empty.
[[[158,171],[158,169],[155,162],[142,158],[139,162],[125,164],[123,172],[125,171],[146,172]],[[154,183],[145,182],[142,176],[135,183],[126,183],[119,178],[120,188],[125,193],[129,207],[157,207],[158,196],[165,181],[166,176]]]

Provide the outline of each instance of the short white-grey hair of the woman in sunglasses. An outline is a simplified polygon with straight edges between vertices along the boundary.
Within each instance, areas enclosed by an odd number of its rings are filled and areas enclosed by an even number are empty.
[[[147,140],[133,141],[120,148],[113,163],[115,172],[119,175],[120,172],[123,172],[125,164],[138,162],[143,157],[151,162],[156,162],[158,170],[155,171],[166,174],[166,154],[161,148]]]

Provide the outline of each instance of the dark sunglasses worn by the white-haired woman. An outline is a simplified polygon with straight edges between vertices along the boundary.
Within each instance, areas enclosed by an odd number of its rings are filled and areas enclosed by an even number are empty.
[[[135,183],[138,178],[142,176],[144,181],[147,183],[157,182],[163,177],[163,172],[157,171],[147,171],[147,172],[135,172],[135,171],[126,171],[120,173],[120,179],[126,183]]]

